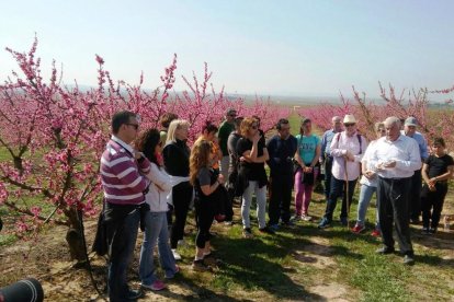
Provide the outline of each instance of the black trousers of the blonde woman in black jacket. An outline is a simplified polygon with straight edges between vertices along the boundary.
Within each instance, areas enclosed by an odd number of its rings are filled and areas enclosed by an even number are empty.
[[[171,248],[177,248],[178,241],[183,239],[189,206],[192,200],[192,191],[193,188],[189,182],[180,183],[172,188],[173,213],[175,219],[170,232]]]

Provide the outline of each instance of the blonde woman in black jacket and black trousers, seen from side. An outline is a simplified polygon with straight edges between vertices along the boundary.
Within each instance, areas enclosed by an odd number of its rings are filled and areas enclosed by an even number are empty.
[[[177,260],[181,256],[177,253],[177,245],[183,240],[184,225],[189,207],[193,197],[193,187],[189,182],[189,158],[191,150],[186,144],[189,121],[184,119],[172,120],[167,132],[166,147],[162,150],[166,172],[172,178],[172,199],[174,221],[170,234],[170,247]]]

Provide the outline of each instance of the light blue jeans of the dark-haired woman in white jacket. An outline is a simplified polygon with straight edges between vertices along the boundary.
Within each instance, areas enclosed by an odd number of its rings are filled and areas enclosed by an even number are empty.
[[[143,284],[150,286],[158,278],[154,264],[152,251],[158,243],[159,260],[166,277],[171,278],[175,271],[175,258],[169,245],[167,212],[148,212],[145,217],[144,242],[140,248],[139,277]]]

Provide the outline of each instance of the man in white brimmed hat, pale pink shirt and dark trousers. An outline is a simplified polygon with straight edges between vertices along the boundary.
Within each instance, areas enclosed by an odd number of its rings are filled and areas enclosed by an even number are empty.
[[[342,199],[340,222],[348,225],[348,210],[353,199],[353,191],[361,172],[361,160],[367,148],[366,139],[356,132],[356,119],[353,115],[343,118],[345,130],[337,133],[330,146],[332,161],[332,178],[325,216],[318,224],[319,229],[330,226],[332,214],[339,197]],[[345,191],[349,194],[347,195]]]

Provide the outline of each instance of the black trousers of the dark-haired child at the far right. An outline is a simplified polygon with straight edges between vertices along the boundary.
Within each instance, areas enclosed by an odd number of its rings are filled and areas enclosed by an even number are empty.
[[[422,209],[422,225],[436,229],[440,223],[440,216],[443,210],[444,198],[447,193],[447,182],[436,183],[435,191],[429,190],[428,185],[422,187],[421,191],[421,209]],[[432,211],[432,212],[431,212]],[[432,219],[432,221],[430,221]]]

